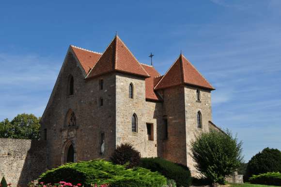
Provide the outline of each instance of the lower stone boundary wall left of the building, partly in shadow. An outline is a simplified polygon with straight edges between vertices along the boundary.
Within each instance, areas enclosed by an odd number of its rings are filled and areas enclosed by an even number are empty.
[[[46,141],[0,138],[0,179],[26,186],[46,170]]]

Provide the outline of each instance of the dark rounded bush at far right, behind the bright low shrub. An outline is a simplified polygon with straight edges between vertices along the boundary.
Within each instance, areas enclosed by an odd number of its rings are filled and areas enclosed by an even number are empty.
[[[281,151],[265,148],[254,155],[247,166],[245,179],[266,172],[281,172]]]

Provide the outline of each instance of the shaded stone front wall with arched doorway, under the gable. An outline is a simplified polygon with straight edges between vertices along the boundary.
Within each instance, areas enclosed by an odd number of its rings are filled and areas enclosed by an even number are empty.
[[[42,119],[42,130],[47,128],[48,168],[61,165],[64,145],[70,141],[75,148],[75,161],[108,157],[115,148],[115,75],[84,80],[81,68],[72,55],[68,55],[58,85]],[[67,94],[68,77],[74,77],[74,95]],[[104,89],[98,89],[99,79]],[[104,105],[99,106],[103,97]],[[66,128],[65,116],[72,109],[77,127]],[[101,133],[105,133],[105,155],[100,154]]]

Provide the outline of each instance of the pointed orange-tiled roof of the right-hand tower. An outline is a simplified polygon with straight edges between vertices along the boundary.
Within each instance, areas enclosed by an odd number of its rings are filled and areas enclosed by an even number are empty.
[[[214,90],[215,88],[192,66],[183,54],[173,63],[171,68],[166,72],[162,79],[155,86],[155,89],[163,89],[175,85],[194,85],[206,89]]]

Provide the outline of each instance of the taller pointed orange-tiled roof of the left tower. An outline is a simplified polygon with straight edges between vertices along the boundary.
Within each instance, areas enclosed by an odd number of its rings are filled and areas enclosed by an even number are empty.
[[[87,78],[96,77],[111,71],[150,77],[117,34],[89,72]]]

